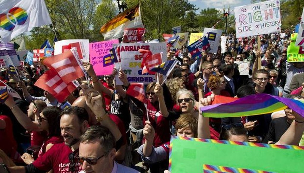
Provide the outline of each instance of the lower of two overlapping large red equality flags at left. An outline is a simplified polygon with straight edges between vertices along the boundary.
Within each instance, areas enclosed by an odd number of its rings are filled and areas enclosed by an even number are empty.
[[[75,81],[65,83],[56,70],[50,69],[40,76],[34,85],[51,93],[59,102],[64,102],[79,86],[79,83]]]

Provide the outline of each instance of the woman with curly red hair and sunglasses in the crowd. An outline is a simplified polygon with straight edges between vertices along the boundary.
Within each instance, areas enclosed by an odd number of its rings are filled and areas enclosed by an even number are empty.
[[[230,97],[229,92],[225,90],[226,81],[223,74],[210,75],[207,86],[211,89],[211,91],[206,93],[205,97],[211,94]]]

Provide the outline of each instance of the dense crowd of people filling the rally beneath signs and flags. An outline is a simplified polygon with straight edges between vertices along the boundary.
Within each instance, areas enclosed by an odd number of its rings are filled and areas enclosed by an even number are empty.
[[[304,117],[286,108],[271,114],[207,118],[200,107],[216,95],[242,98],[266,93],[290,99],[304,98],[304,62],[287,62],[290,30],[280,34],[237,39],[230,35],[218,53],[202,52],[193,59],[185,46],[167,60],[178,65],[165,80],[145,86],[146,104],[127,94],[123,69],[90,78],[78,87],[62,108],[49,92],[34,83],[47,69],[43,63],[25,64],[24,76],[1,69],[0,79],[21,96],[0,104],[0,163],[11,173],[138,173],[168,172],[171,135],[206,139],[304,145]],[[221,53],[225,49],[225,53]],[[261,60],[261,69],[258,61]],[[240,75],[235,61],[250,63]],[[123,85],[115,84],[115,76]],[[162,84],[164,81],[164,84]],[[142,165],[138,166],[138,163]],[[137,166],[136,166],[137,165]]]

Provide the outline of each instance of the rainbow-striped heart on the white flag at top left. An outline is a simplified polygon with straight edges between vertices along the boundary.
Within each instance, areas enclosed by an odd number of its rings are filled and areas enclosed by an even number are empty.
[[[9,10],[8,14],[0,14],[0,27],[12,31],[16,25],[23,25],[28,15],[26,11],[20,7],[14,7]]]

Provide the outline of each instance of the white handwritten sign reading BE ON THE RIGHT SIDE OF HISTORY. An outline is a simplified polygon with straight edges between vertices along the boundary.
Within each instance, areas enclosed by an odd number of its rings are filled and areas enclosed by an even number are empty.
[[[279,0],[235,7],[234,15],[237,38],[281,31]]]

